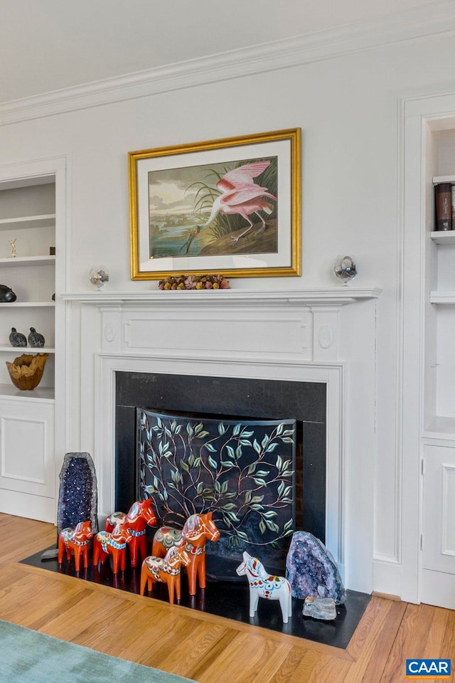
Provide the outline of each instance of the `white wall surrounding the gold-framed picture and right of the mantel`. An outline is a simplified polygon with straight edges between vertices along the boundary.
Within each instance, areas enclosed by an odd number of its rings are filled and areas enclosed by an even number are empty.
[[[105,263],[112,290],[140,291],[154,282],[129,280],[127,152],[202,139],[301,127],[303,138],[303,275],[245,279],[234,287],[280,289],[333,285],[340,253],[354,255],[355,285],[382,287],[378,302],[375,406],[365,427],[363,406],[348,388],[347,450],[355,452],[347,485],[367,494],[375,485],[375,578],[350,588],[400,593],[400,457],[397,453],[397,312],[400,292],[400,101],[455,90],[451,36],[372,48],[356,54],[211,85],[165,92],[87,110],[0,126],[0,164],[54,155],[71,158],[68,290],[92,287],[87,272]],[[453,171],[452,171],[453,172]],[[347,310],[347,309],[345,309]],[[364,330],[348,316],[358,349]],[[71,334],[77,339],[77,317]],[[90,332],[89,332],[90,333]],[[87,334],[87,330],[85,330]],[[346,354],[353,354],[345,339]],[[75,346],[77,348],[77,346]],[[357,350],[358,350],[357,349]],[[354,359],[355,360],[355,359]],[[76,361],[76,359],[75,359]],[[77,367],[77,364],[76,364]],[[78,416],[74,417],[77,425]],[[358,433],[375,435],[362,454]],[[77,432],[77,429],[75,430]],[[74,435],[76,439],[76,435]],[[362,443],[362,440],[360,440]],[[77,444],[72,445],[77,450]],[[365,456],[365,460],[363,459]],[[362,463],[368,467],[362,467]],[[356,467],[356,463],[360,465]],[[348,539],[367,531],[348,514]],[[370,550],[368,550],[370,552]]]

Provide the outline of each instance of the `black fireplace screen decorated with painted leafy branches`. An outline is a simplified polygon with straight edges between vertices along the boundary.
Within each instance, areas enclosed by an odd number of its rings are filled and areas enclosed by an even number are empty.
[[[213,511],[207,553],[282,566],[295,529],[296,420],[214,419],[138,408],[138,487],[160,524]]]

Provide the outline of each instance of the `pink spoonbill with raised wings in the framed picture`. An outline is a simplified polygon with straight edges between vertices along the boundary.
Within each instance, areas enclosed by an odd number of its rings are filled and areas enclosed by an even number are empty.
[[[269,192],[267,187],[262,187],[255,183],[253,179],[261,176],[269,166],[269,161],[250,162],[225,173],[215,185],[216,189],[220,191],[220,195],[213,201],[210,216],[205,223],[193,228],[186,243],[183,245],[182,251],[185,250],[185,253],[188,254],[193,239],[199,235],[203,228],[210,226],[220,213],[227,216],[241,216],[247,221],[245,230],[230,235],[230,239],[235,243],[245,237],[255,227],[255,223],[250,218],[252,215],[259,218],[260,221],[259,228],[256,231],[257,234],[264,233],[266,222],[262,213],[269,216],[273,211],[272,206],[264,197],[273,201],[277,201],[277,197]]]

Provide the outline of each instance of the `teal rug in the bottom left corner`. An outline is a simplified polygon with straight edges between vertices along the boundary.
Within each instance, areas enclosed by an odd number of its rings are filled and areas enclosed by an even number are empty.
[[[188,683],[0,620],[1,683]]]

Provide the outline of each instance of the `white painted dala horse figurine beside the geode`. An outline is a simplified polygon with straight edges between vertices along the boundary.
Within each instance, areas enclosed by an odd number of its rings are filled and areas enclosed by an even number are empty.
[[[255,616],[259,598],[279,600],[283,623],[287,624],[292,615],[291,584],[287,578],[271,576],[257,557],[252,557],[247,552],[243,554],[243,562],[236,571],[239,576],[247,576],[250,584],[250,617]]]

